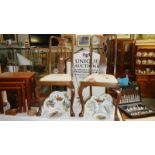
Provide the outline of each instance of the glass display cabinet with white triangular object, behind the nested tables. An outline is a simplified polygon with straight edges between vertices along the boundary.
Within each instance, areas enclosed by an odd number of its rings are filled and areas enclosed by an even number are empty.
[[[0,64],[4,71],[35,71],[47,74],[48,48],[25,48],[0,46]]]

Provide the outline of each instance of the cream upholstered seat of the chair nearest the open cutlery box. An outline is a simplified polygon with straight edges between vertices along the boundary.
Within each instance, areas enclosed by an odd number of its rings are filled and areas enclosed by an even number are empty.
[[[91,74],[82,81],[104,82],[104,83],[118,83],[113,75],[109,74]]]

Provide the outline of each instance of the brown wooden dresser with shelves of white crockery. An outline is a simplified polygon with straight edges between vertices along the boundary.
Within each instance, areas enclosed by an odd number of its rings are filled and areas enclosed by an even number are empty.
[[[142,97],[155,98],[155,46],[137,46],[135,73]]]

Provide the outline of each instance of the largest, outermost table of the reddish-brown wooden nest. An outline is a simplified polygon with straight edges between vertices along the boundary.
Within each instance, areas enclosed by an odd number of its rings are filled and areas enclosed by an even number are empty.
[[[0,82],[24,82],[28,109],[35,88],[35,72],[5,72],[0,75]]]

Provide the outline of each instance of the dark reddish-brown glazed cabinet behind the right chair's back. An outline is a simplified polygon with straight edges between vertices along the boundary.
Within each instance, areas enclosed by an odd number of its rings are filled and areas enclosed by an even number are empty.
[[[113,73],[114,70],[114,48],[115,42],[111,41],[110,51],[108,54],[108,73]],[[117,64],[116,77],[125,77],[128,75],[131,78],[135,77],[135,41],[129,39],[117,40]]]

